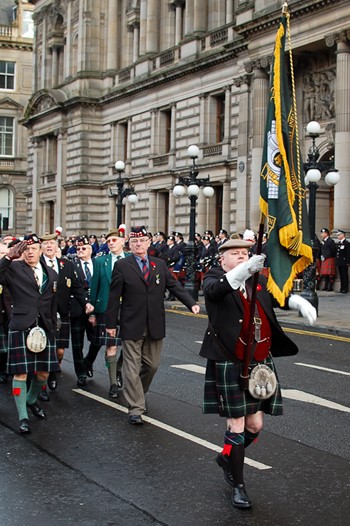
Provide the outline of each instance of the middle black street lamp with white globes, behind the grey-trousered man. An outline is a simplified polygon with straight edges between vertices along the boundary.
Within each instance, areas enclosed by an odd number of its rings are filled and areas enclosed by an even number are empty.
[[[187,194],[190,199],[190,232],[188,243],[185,248],[186,256],[186,283],[185,288],[189,291],[195,300],[198,300],[198,284],[195,279],[195,259],[196,259],[196,204],[200,188],[203,187],[203,195],[207,198],[214,195],[214,188],[210,186],[209,177],[198,179],[198,166],[196,159],[199,155],[198,146],[192,144],[187,149],[189,157],[192,159],[192,166],[188,177],[179,177],[177,184],[174,186],[173,194],[175,197],[182,197]]]

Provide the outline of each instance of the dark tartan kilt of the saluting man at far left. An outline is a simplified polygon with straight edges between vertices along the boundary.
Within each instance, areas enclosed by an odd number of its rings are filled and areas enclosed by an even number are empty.
[[[28,334],[29,329],[25,331],[9,330],[8,373],[25,374],[37,371],[59,371],[56,341],[53,333],[46,332],[47,346],[38,353],[29,351],[27,348],[26,339]]]

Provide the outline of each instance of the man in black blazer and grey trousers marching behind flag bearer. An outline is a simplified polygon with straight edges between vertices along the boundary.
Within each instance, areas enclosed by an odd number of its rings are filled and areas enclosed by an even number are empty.
[[[106,316],[110,336],[116,336],[116,327],[120,325],[123,392],[129,405],[129,423],[136,425],[143,423],[145,393],[160,363],[165,336],[165,289],[194,314],[199,313],[199,306],[171,276],[165,261],[148,256],[149,244],[145,227],[132,229],[129,235],[132,256],[114,266]]]

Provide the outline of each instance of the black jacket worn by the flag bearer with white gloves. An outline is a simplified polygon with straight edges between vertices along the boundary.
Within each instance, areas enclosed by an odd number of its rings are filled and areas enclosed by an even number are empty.
[[[251,278],[252,280],[252,278]],[[266,290],[266,278],[259,276],[256,299],[260,302],[270,322],[273,356],[289,356],[298,353],[298,347],[283,332],[277,321],[273,301]],[[203,280],[205,305],[211,327],[204,335],[200,355],[216,361],[227,361],[234,356],[234,349],[241,333],[243,305],[238,290],[233,290],[221,267],[210,269]],[[227,352],[218,344],[218,336]]]

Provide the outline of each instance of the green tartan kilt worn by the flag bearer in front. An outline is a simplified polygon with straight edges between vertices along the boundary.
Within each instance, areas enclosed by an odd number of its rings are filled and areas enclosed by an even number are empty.
[[[241,364],[208,360],[205,372],[203,413],[219,413],[226,418],[239,418],[263,411],[269,415],[282,415],[281,387],[271,354],[261,362],[252,360],[250,368],[265,363],[276,374],[277,389],[267,400],[253,398],[248,390],[240,388]]]

